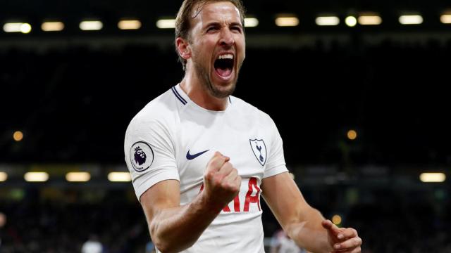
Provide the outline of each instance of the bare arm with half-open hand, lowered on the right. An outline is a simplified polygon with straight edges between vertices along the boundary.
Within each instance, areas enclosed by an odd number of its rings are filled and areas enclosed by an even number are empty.
[[[309,252],[360,252],[362,240],[353,228],[338,228],[310,207],[288,173],[263,179],[263,197],[285,233]],[[338,247],[338,245],[340,245]]]

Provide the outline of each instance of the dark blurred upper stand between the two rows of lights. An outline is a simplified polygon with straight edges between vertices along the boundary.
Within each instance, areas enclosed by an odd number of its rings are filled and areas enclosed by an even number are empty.
[[[435,40],[247,48],[235,96],[274,119],[289,164],[449,165],[450,57],[451,41]],[[121,163],[130,119],[183,77],[171,45],[9,48],[0,58],[2,162]],[[349,129],[358,137],[346,147]]]

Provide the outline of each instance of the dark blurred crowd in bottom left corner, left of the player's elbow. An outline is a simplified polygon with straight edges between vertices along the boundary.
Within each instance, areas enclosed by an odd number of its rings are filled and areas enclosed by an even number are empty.
[[[149,241],[138,204],[15,203],[1,209],[8,216],[0,228],[1,253],[82,252],[92,238],[103,245],[104,253],[144,252]],[[90,252],[85,250],[82,253]]]

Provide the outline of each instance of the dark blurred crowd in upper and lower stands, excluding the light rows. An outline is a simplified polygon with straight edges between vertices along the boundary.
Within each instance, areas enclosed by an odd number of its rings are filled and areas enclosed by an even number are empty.
[[[451,41],[434,40],[249,48],[235,95],[273,117],[290,168],[449,167],[450,57]],[[131,117],[183,77],[172,47],[10,48],[0,58],[0,162],[6,164],[123,164]],[[345,143],[350,127],[359,136]],[[24,132],[20,143],[11,138],[16,129]],[[354,202],[335,196],[342,186],[321,194],[300,187],[326,217],[340,212],[342,226],[357,228],[363,252],[451,252],[449,183],[365,189],[371,194]],[[105,253],[152,249],[139,203],[121,190],[72,200],[43,200],[39,188],[21,200],[0,198],[6,217],[0,252],[81,252],[92,236]],[[263,219],[271,238],[279,227],[267,207]]]

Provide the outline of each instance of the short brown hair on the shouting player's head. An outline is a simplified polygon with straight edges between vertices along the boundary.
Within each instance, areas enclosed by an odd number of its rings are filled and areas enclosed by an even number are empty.
[[[233,5],[235,5],[240,11],[241,16],[241,24],[244,28],[245,26],[245,7],[242,4],[241,0],[184,0],[182,6],[180,6],[180,10],[178,10],[177,18],[175,18],[175,39],[178,37],[182,39],[190,39],[190,19],[196,18],[197,15],[202,11],[202,7],[205,4],[209,4],[211,2],[219,2],[219,1],[229,1]],[[192,14],[194,7],[197,6],[196,13]],[[175,50],[177,51],[177,44],[175,44]],[[178,60],[183,65],[183,70],[186,70],[187,61],[180,56],[178,53]]]

